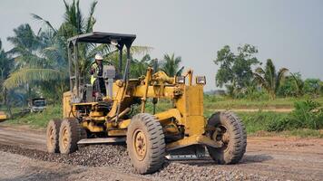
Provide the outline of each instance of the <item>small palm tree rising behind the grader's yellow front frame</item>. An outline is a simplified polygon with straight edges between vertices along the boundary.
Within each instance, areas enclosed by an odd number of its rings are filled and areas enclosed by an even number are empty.
[[[164,54],[162,62],[162,71],[171,77],[181,74],[184,67],[179,69],[181,63],[181,56],[175,57],[175,54]]]

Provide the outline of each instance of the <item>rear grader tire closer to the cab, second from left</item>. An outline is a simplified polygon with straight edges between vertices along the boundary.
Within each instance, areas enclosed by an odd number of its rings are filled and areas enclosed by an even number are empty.
[[[77,119],[64,119],[59,134],[59,148],[62,154],[77,150],[77,142],[82,138],[82,128]]]

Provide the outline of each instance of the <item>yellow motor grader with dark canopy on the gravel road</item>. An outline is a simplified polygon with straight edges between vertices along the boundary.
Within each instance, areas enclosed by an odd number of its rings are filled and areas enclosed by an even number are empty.
[[[146,74],[130,79],[131,46],[136,35],[86,33],[68,40],[70,90],[64,92],[63,119],[47,126],[47,150],[70,154],[83,144],[126,143],[132,166],[140,174],[159,170],[166,156],[210,157],[218,164],[235,164],[246,150],[246,131],[230,111],[203,116],[205,76],[193,71],[170,77],[149,67]],[[93,86],[80,73],[80,43],[107,43],[119,53],[118,69],[103,65],[106,92],[94,97]],[[126,62],[122,66],[122,52]],[[171,109],[156,111],[161,100]],[[150,104],[153,111],[148,113]],[[134,113],[137,107],[137,113]],[[138,111],[139,110],[139,111]],[[180,154],[179,154],[180,153]],[[190,157],[181,157],[189,155]]]

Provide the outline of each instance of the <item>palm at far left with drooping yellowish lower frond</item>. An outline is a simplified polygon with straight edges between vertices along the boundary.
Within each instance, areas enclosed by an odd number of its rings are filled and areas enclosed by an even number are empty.
[[[7,40],[14,44],[8,53],[15,57],[15,71],[4,82],[7,89],[13,89],[33,81],[61,79],[64,72],[54,67],[42,52],[42,41],[34,34],[29,24],[22,24],[14,30],[15,36]]]

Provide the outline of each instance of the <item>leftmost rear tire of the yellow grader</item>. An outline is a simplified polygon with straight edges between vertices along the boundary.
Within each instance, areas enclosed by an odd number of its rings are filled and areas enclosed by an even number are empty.
[[[59,132],[61,127],[61,119],[51,119],[47,124],[46,131],[46,146],[48,153],[58,153],[59,152]]]

